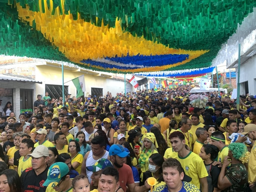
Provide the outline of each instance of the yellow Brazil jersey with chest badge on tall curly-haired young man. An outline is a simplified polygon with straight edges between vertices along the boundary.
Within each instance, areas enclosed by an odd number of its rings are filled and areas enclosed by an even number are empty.
[[[171,158],[177,159],[181,163],[185,174],[193,178],[190,183],[200,189],[199,178],[208,176],[203,160],[196,153],[191,151],[184,158],[180,157],[177,152],[173,152]]]

